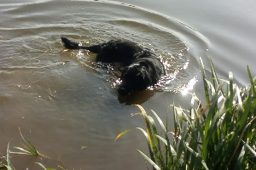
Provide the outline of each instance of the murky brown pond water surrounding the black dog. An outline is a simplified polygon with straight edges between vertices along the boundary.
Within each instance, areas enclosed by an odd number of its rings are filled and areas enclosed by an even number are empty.
[[[22,146],[21,133],[55,160],[13,156],[16,169],[61,165],[67,169],[151,169],[139,109],[166,118],[168,105],[187,106],[184,90],[204,96],[199,56],[221,78],[233,71],[247,85],[256,75],[254,1],[44,1],[0,3],[0,153]],[[96,54],[67,50],[60,37],[83,45],[125,39],[154,50],[168,73],[148,90],[119,97],[117,65],[96,63]],[[202,98],[203,99],[203,98]],[[172,112],[171,110],[169,112]],[[172,118],[172,115],[169,116]],[[170,120],[172,122],[172,119]],[[172,125],[170,127],[172,130]],[[82,146],[87,146],[81,150]],[[12,149],[15,150],[15,149]]]

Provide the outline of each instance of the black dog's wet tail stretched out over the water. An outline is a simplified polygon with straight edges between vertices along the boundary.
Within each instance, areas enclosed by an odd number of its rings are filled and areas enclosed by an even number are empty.
[[[69,39],[67,39],[67,37],[61,37],[61,41],[64,42],[64,46],[68,49],[87,49],[92,53],[100,53],[100,51],[102,50],[102,45],[93,45],[90,47],[86,47],[86,46],[80,46],[79,43],[77,42],[72,42]]]

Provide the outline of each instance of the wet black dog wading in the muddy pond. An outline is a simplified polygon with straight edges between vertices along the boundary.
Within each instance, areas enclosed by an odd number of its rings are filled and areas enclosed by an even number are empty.
[[[87,49],[96,53],[96,61],[118,62],[126,66],[120,79],[118,89],[120,95],[130,94],[131,91],[141,91],[156,84],[161,76],[166,75],[165,67],[151,51],[137,45],[135,42],[112,40],[90,47],[79,46],[66,37],[61,37],[64,46],[70,49]]]

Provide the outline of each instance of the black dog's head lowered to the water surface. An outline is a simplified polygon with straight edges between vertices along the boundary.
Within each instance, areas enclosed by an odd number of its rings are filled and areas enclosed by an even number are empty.
[[[139,63],[125,67],[120,77],[122,83],[118,89],[120,95],[130,94],[131,91],[141,91],[151,85],[148,69]]]

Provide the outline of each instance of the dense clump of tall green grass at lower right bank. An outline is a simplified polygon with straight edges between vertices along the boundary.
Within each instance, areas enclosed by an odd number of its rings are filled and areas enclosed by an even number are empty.
[[[173,131],[151,110],[160,124],[157,129],[154,118],[137,105],[147,128],[137,129],[148,141],[149,156],[138,151],[154,169],[256,169],[256,78],[247,66],[251,83],[239,88],[231,72],[229,80],[218,79],[210,62],[212,77],[207,79],[201,61],[207,105],[202,106],[195,93],[191,94],[189,110],[170,105]],[[119,133],[117,139],[130,130]]]

